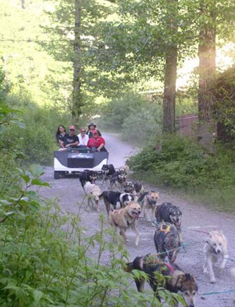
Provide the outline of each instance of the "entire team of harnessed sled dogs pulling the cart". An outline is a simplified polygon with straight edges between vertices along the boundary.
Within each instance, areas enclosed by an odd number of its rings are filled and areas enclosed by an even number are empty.
[[[171,277],[166,279],[164,288],[174,292],[181,293],[187,307],[195,306],[195,294],[198,292],[198,285],[195,277],[183,272],[181,268],[174,263],[182,247],[183,238],[181,234],[182,212],[179,207],[171,203],[162,203],[158,205],[159,193],[156,191],[145,191],[140,182],[127,181],[130,170],[128,166],[115,169],[113,164],[104,164],[102,166],[102,186],[109,186],[111,190],[101,191],[95,184],[98,177],[96,171],[83,171],[80,174],[80,183],[88,198],[87,210],[90,210],[90,203],[94,205],[97,211],[100,211],[100,200],[104,200],[107,210],[109,224],[116,229],[117,236],[122,236],[128,241],[126,229],[131,228],[135,234],[135,245],[138,246],[140,232],[136,227],[136,221],[145,218],[155,222],[156,230],[154,234],[154,243],[157,255],[145,255],[136,257],[133,262],[126,264],[126,271],[140,270],[149,276],[150,287],[157,290],[157,275],[155,272],[161,272],[162,275]],[[151,219],[149,218],[151,213]],[[140,214],[143,217],[140,217]],[[205,263],[203,273],[209,274],[210,283],[215,283],[215,274],[213,264],[219,262],[219,270],[224,270],[227,263],[228,242],[222,230],[211,230],[207,234],[204,246]],[[168,261],[165,260],[167,258]],[[231,270],[235,279],[235,267]],[[144,289],[144,279],[135,279],[138,291]],[[234,299],[235,303],[235,299]]]

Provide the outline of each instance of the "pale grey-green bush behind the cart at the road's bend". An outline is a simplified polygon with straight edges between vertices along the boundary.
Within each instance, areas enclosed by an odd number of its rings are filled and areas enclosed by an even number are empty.
[[[124,140],[145,145],[161,132],[162,106],[136,92],[126,92],[104,104],[99,125],[121,131]]]

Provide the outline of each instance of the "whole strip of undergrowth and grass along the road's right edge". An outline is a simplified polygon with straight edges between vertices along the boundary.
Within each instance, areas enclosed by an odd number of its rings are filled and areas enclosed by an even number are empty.
[[[162,143],[162,150],[157,144]],[[235,147],[235,145],[234,145]],[[216,145],[208,154],[179,136],[162,136],[129,159],[135,176],[156,185],[181,189],[219,210],[235,210],[235,154],[232,144]]]

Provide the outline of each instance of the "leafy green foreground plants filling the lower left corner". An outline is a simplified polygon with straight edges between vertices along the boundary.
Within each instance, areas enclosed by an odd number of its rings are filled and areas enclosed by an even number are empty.
[[[113,231],[104,229],[104,216],[100,230],[85,237],[79,215],[62,213],[35,192],[35,185],[48,186],[40,179],[43,169],[30,171],[18,170],[23,185],[17,198],[0,200],[1,306],[162,306],[152,291],[140,294],[131,286],[133,277],[123,270],[127,251],[107,239]],[[135,277],[147,279],[138,271]],[[169,306],[182,301],[162,288],[159,296]]]

